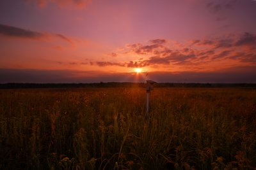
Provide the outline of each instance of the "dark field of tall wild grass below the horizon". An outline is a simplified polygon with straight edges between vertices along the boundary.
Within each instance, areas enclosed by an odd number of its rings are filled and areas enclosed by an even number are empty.
[[[0,169],[255,169],[256,89],[2,89],[0,144]]]

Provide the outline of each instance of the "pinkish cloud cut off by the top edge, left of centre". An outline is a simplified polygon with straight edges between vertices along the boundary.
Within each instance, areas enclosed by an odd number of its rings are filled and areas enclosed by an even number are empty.
[[[28,3],[35,3],[36,5],[40,7],[45,7],[48,4],[56,4],[60,8],[85,8],[92,2],[92,0],[25,0]]]

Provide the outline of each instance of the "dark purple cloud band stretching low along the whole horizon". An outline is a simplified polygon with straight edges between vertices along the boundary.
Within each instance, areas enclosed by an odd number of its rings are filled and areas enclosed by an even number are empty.
[[[233,67],[214,72],[150,72],[148,78],[172,83],[256,83],[256,67]],[[0,69],[0,83],[143,82],[131,73],[36,69]]]

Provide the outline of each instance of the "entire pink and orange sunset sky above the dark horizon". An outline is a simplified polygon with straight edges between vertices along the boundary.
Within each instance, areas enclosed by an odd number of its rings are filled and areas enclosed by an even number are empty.
[[[256,83],[256,1],[0,1],[0,83],[147,79]]]

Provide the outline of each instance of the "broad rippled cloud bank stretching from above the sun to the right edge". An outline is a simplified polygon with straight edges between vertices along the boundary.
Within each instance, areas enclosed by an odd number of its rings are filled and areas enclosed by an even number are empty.
[[[169,43],[166,43],[169,42]],[[170,43],[173,42],[173,43]],[[149,44],[148,44],[149,43]],[[218,60],[236,62],[250,62],[255,64],[253,58],[256,54],[256,35],[248,32],[243,34],[228,34],[221,38],[192,39],[185,43],[175,43],[172,40],[153,39],[148,43],[134,43],[126,46],[128,55],[143,55],[142,60],[124,64],[129,67],[156,67],[157,65],[192,66],[192,64],[205,64]],[[239,53],[243,46],[244,53]],[[250,54],[250,55],[249,55]],[[241,56],[237,56],[241,55]]]

